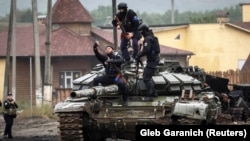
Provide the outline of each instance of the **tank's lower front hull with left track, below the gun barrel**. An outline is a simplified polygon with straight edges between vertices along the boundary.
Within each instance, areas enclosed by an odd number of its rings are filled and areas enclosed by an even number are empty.
[[[135,140],[138,124],[169,124],[171,101],[159,96],[155,101],[142,104],[138,99],[130,97],[126,107],[122,106],[120,98],[112,98],[112,103],[94,100],[57,105],[55,112],[59,117],[61,140]],[[168,105],[164,104],[166,102]]]

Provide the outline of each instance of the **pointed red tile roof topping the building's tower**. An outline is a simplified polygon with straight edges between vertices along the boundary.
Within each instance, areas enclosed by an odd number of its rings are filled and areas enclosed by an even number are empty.
[[[89,12],[79,0],[57,0],[52,10],[52,23],[90,23]]]

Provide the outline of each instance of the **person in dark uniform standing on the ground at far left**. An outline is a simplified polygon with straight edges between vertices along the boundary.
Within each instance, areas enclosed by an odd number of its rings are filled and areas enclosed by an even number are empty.
[[[11,130],[14,118],[16,118],[16,109],[18,108],[18,106],[12,98],[11,93],[7,95],[7,99],[3,103],[3,108],[3,117],[6,124],[4,130],[4,138],[13,138]]]

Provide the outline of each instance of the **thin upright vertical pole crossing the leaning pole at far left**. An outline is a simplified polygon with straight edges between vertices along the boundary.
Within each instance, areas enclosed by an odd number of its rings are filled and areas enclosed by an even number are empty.
[[[12,95],[16,100],[16,0],[13,0],[13,33],[12,33]]]

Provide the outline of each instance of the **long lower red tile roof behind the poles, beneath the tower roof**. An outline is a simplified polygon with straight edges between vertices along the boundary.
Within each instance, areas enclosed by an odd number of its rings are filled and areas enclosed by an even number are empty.
[[[90,36],[80,36],[67,28],[60,28],[51,33],[51,56],[94,55],[94,40]],[[7,32],[0,33],[0,56],[6,56]],[[45,26],[39,25],[40,55],[46,51]],[[33,26],[16,29],[16,56],[34,56]]]

